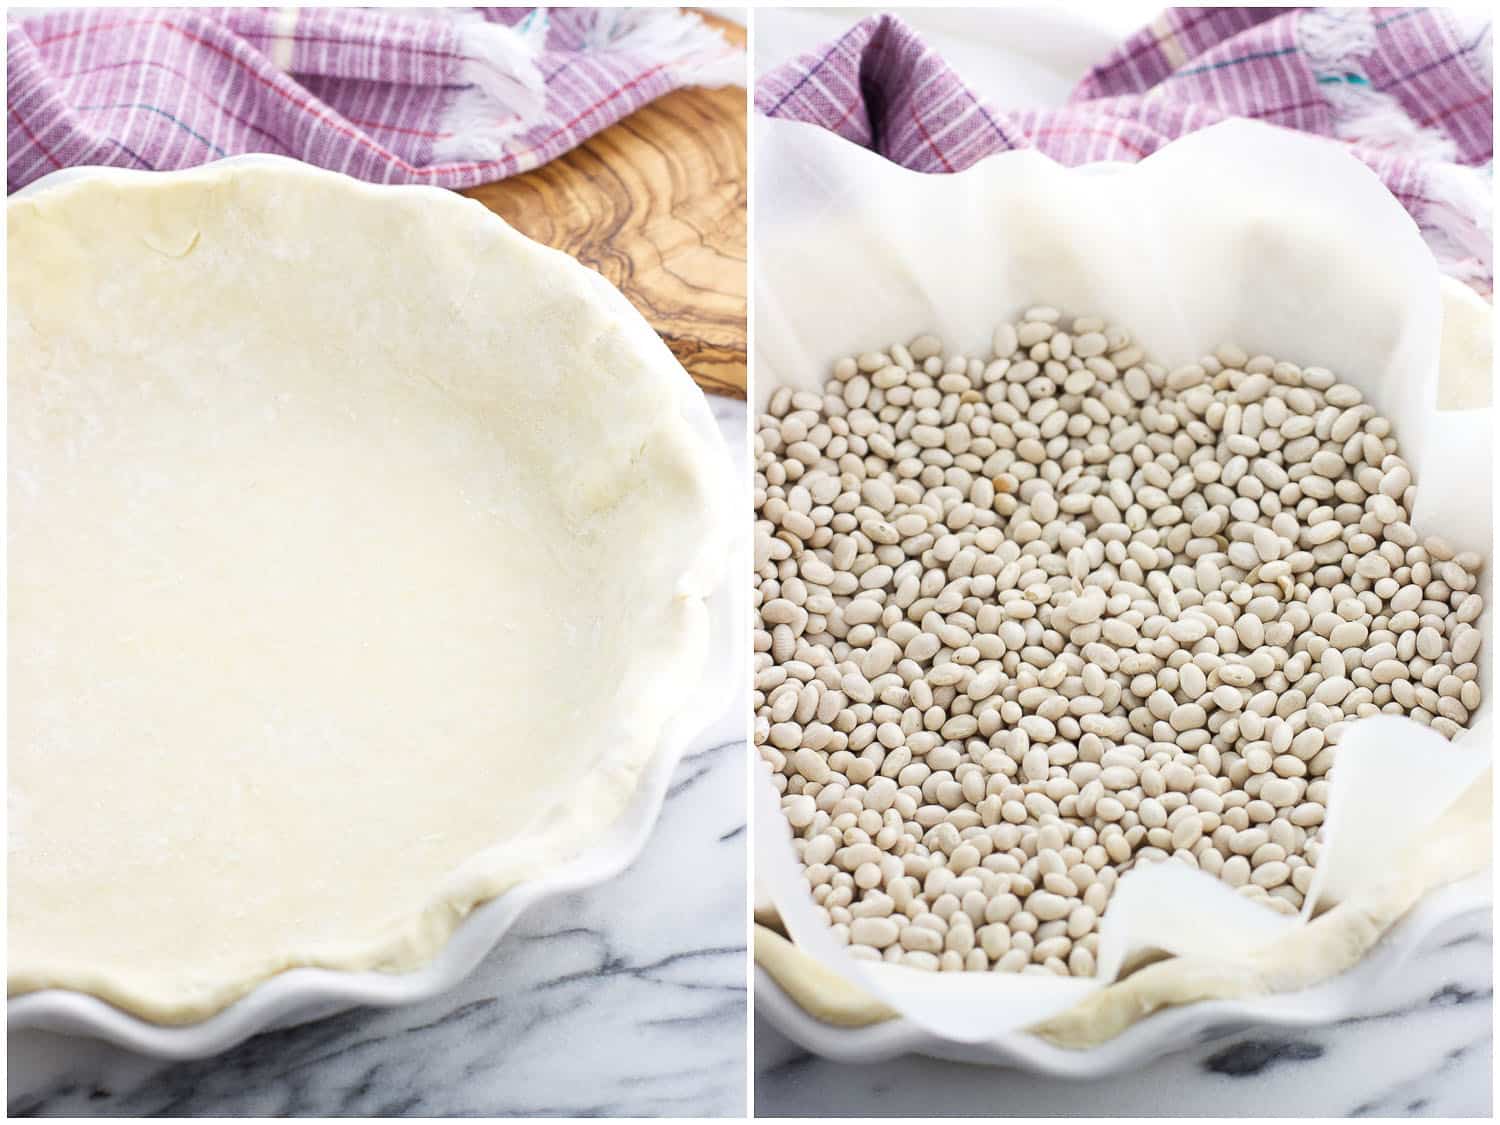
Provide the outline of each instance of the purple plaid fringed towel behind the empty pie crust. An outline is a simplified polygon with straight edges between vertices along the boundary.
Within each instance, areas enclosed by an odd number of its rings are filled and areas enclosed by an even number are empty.
[[[264,152],[381,183],[536,168],[744,52],[678,9],[93,8],[9,20],[9,190]]]

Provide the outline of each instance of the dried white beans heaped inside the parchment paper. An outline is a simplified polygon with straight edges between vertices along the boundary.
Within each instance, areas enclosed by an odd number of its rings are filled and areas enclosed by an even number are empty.
[[[1348,723],[1479,706],[1482,561],[1323,368],[1034,308],[777,390],[754,456],[754,740],[855,957],[1089,976],[1140,862],[1294,914]]]

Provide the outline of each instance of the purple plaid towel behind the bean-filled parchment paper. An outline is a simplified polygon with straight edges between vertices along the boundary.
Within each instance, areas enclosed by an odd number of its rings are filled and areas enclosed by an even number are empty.
[[[922,172],[1008,148],[1138,160],[1226,117],[1342,141],[1480,292],[1494,276],[1488,16],[1431,8],[1170,8],[1060,108],[1000,112],[894,16],[765,75],[756,108]]]

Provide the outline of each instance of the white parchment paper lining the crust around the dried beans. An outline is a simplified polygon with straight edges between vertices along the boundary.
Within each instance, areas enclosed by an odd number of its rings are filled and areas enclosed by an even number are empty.
[[[1167,366],[1233,340],[1359,387],[1392,420],[1413,468],[1413,526],[1488,561],[1488,394],[1444,387],[1444,402],[1485,406],[1438,408],[1437,267],[1401,206],[1336,146],[1230,122],[1138,165],[1066,170],[1017,152],[922,176],[814,126],[756,118],[754,128],[758,410],[780,386],[820,390],[840,356],[924,332],[950,352],[987,356],[993,327],[1030,304],[1104,316]],[[1462,346],[1473,334],[1470,321]],[[1479,592],[1488,688],[1488,573]],[[1125,874],[1094,980],[854,960],[813,912],[764,770],[756,878],[794,942],[825,969],[945,1038],[976,1042],[1072,1006],[1143,950],[1250,957],[1372,885],[1488,766],[1491,711],[1486,698],[1454,742],[1388,716],[1348,728],[1302,918],[1179,864]]]

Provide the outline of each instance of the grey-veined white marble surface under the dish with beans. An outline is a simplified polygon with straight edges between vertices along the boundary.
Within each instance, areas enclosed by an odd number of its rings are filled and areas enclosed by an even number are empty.
[[[756,1116],[1488,1118],[1492,946],[1488,918],[1455,920],[1365,1016],[1197,1044],[1094,1082],[914,1056],[836,1064],[756,1020]]]

